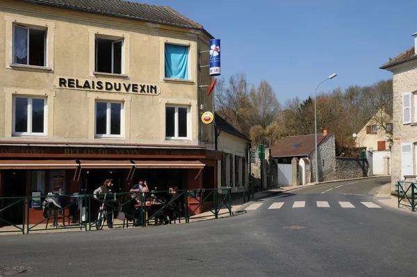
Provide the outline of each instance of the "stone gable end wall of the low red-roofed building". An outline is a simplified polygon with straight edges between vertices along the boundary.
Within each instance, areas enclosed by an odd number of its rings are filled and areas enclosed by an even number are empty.
[[[334,135],[318,146],[318,180],[326,182],[336,179],[336,145]],[[316,182],[316,150],[310,155],[311,182]]]

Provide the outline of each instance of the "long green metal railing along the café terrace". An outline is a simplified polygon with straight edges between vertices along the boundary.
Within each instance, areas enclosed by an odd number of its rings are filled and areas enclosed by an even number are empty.
[[[162,195],[171,197],[164,200]],[[51,199],[60,205],[52,205]],[[104,208],[100,209],[101,206]],[[42,210],[35,215],[31,210],[33,207]],[[224,207],[226,211],[221,212]],[[106,193],[97,198],[93,194],[3,197],[0,198],[0,232],[29,234],[65,229],[99,230],[107,219],[113,226],[124,227],[130,221],[136,226],[146,227],[152,223],[156,225],[158,221],[162,224],[170,221],[181,223],[181,220],[188,223],[190,219],[208,216],[218,219],[223,214],[232,215],[229,187],[179,190],[173,194],[170,191]],[[42,219],[36,220],[35,216]],[[1,225],[8,228],[1,228]]]

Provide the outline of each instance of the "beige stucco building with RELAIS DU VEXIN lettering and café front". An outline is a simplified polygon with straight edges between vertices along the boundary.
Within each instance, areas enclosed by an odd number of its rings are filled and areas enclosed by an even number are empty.
[[[0,196],[91,192],[106,178],[120,191],[138,178],[217,186],[221,154],[200,120],[214,113],[199,69],[212,38],[169,7],[0,0]]]

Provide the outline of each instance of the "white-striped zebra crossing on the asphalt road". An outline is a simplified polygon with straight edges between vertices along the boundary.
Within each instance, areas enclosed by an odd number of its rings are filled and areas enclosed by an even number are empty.
[[[343,209],[352,209],[352,208],[356,208],[359,205],[361,205],[362,207],[367,207],[369,209],[378,209],[380,208],[379,205],[373,203],[373,202],[360,202],[360,204],[356,204],[353,205],[352,203],[350,203],[349,201],[337,201],[338,205],[336,203],[332,204],[332,206],[329,204],[328,201],[314,201],[316,207],[318,208],[330,208],[330,207],[341,207]],[[262,207],[264,205],[264,203],[252,203],[251,205],[249,205],[248,207],[246,207],[247,211],[254,211],[256,209],[258,209],[259,207]],[[265,204],[268,205],[268,204]],[[275,202],[272,203],[268,206],[268,209],[281,209],[282,207],[292,207],[294,209],[299,209],[299,208],[305,208],[306,207],[306,201],[290,201],[288,203],[286,202]]]

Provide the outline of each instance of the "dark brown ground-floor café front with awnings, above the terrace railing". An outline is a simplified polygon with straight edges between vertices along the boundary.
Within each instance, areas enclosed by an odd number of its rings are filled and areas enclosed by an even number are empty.
[[[199,146],[13,142],[0,144],[0,157],[0,197],[19,197],[93,193],[106,179],[113,179],[113,192],[129,191],[140,179],[158,191],[172,186],[213,189],[221,153]],[[190,199],[189,207],[197,207],[197,201]],[[42,219],[41,207],[29,212],[33,221]],[[16,211],[3,214],[8,221],[19,221],[20,216]]]

